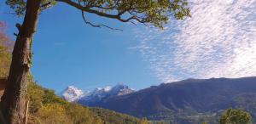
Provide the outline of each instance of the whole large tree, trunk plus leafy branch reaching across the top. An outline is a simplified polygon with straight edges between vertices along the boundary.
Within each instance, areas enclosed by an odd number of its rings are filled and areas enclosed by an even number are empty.
[[[86,24],[111,29],[108,25],[91,23],[85,15],[96,14],[121,22],[153,24],[160,28],[167,23],[170,15],[177,20],[190,16],[187,0],[6,0],[6,3],[15,10],[15,14],[24,15],[22,25],[16,24],[19,32],[15,34],[8,86],[0,106],[10,124],[22,123],[25,116],[26,76],[32,64],[32,37],[37,29],[38,16],[44,9],[55,3],[67,3],[81,11]]]

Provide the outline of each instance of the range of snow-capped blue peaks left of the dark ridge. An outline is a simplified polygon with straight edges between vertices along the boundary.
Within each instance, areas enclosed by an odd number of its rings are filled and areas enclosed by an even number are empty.
[[[69,102],[78,102],[84,105],[96,104],[104,99],[135,92],[134,89],[119,83],[114,87],[97,87],[92,92],[83,92],[77,87],[69,86],[61,93]]]

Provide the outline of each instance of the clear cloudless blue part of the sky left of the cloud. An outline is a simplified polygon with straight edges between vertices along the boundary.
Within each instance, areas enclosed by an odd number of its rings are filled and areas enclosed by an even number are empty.
[[[22,19],[9,12],[1,1],[0,20],[8,23],[7,32],[15,39],[15,23]],[[93,15],[90,20],[124,31],[85,25],[80,11],[65,4],[57,4],[40,15],[32,65],[32,74],[39,84],[61,92],[68,85],[91,90],[123,82],[140,89],[160,83],[140,53],[132,49],[139,42],[131,30],[135,25]]]

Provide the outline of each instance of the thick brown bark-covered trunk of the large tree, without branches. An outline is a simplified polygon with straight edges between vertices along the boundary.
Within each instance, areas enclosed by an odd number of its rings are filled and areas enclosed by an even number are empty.
[[[38,24],[41,0],[27,0],[23,24],[16,25],[15,42],[8,85],[1,100],[1,111],[8,124],[23,124],[26,111],[27,75],[31,65],[31,43]]]

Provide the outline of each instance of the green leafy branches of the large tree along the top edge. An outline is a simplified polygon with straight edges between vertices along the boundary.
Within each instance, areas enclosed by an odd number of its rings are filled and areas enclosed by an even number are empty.
[[[6,0],[15,14],[22,16],[26,10],[27,0]],[[96,14],[101,17],[119,20],[121,22],[152,24],[163,28],[170,16],[177,20],[183,20],[190,16],[187,0],[40,0],[41,11],[52,7],[55,3],[67,3],[82,12],[84,21],[86,14]]]

